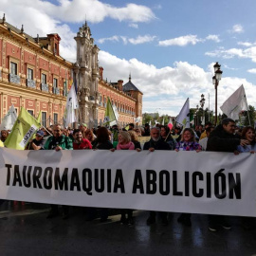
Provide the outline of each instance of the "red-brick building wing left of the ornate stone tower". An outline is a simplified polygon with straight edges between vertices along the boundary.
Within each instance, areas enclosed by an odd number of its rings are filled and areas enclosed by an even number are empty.
[[[13,104],[23,106],[42,124],[63,122],[67,83],[72,64],[60,56],[58,34],[32,38],[0,20],[0,119]]]

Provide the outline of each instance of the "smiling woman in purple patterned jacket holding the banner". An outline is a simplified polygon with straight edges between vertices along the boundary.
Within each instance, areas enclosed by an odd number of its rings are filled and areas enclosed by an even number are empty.
[[[177,142],[175,151],[196,151],[200,152],[201,146],[199,143],[195,141],[195,133],[191,128],[185,128],[182,135],[181,140]],[[184,226],[191,227],[191,213],[181,213],[177,219],[177,222],[183,224]]]

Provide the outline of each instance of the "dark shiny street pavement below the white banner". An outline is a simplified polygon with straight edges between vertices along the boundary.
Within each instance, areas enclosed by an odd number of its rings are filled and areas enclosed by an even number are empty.
[[[117,210],[110,220],[85,220],[84,208],[72,208],[71,217],[46,219],[43,204],[14,204],[0,207],[0,255],[256,255],[256,230],[245,230],[238,217],[232,229],[210,232],[205,215],[192,215],[192,228],[176,222],[146,226],[146,211],[135,211],[135,225],[121,226]]]

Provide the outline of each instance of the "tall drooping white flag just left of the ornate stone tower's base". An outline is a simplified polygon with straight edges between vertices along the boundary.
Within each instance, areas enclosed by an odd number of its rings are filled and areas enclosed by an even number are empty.
[[[76,90],[73,83],[67,94],[65,110],[64,110],[64,120],[67,125],[69,123],[73,123],[77,121],[75,109],[78,109],[78,108],[79,108],[79,103],[78,103],[78,98],[77,98]]]

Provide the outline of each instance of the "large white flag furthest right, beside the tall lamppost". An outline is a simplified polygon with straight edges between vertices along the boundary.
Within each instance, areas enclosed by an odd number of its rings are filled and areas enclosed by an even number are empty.
[[[247,110],[247,97],[243,84],[223,103],[220,109],[229,119],[239,119],[239,113]]]

